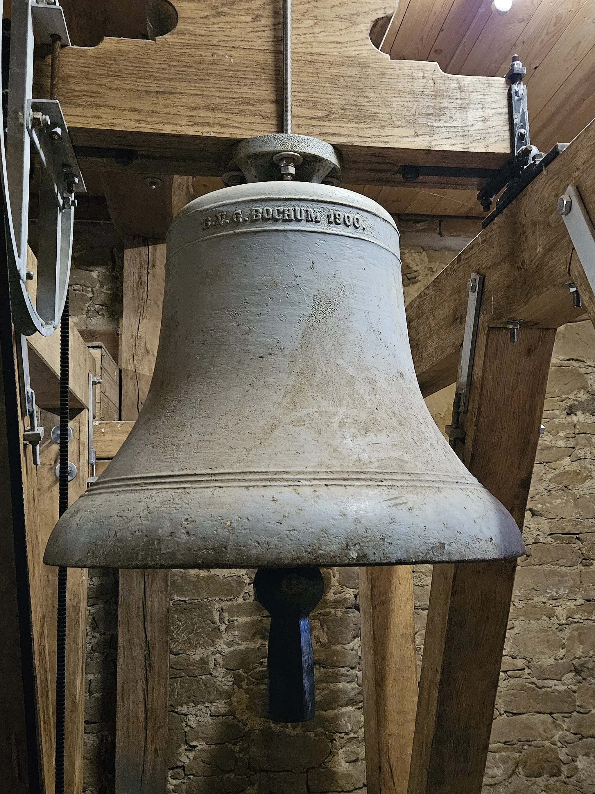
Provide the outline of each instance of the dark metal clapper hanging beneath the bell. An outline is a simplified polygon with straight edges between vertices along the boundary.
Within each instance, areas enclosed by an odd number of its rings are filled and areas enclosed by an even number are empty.
[[[314,565],[259,568],[254,598],[271,615],[268,643],[268,717],[277,723],[313,719],[314,661],[309,614],[324,582]]]

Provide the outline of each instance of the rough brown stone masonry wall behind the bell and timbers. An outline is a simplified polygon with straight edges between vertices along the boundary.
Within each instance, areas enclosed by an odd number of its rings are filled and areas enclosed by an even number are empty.
[[[434,219],[399,225],[409,300],[465,245],[474,225]],[[117,243],[102,249],[96,235],[85,237],[81,229],[77,246],[72,283],[79,322],[113,330],[121,313]],[[441,429],[451,401],[452,390],[428,400]],[[589,322],[559,331],[543,424],[525,521],[528,555],[516,576],[484,794],[595,794],[595,331]],[[324,571],[324,599],[311,620],[317,717],[286,727],[264,716],[268,619],[253,600],[253,574],[172,572],[168,788],[176,794],[365,792],[357,570]],[[418,661],[431,576],[431,566],[414,571]],[[84,791],[111,794],[117,575],[90,572],[89,597]]]

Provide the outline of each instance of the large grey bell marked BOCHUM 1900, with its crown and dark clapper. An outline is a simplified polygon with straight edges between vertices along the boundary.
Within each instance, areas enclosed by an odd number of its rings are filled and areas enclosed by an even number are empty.
[[[174,219],[148,397],[44,561],[261,569],[269,713],[293,722],[313,716],[316,566],[498,560],[524,545],[425,406],[393,218],[321,183],[337,168],[317,151],[328,145],[285,138],[274,160],[259,139],[240,144],[229,182],[257,177],[265,149],[269,179],[289,162],[309,181],[236,184]]]

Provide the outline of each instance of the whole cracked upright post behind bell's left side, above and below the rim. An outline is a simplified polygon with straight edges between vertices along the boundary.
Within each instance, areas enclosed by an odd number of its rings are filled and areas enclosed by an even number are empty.
[[[125,237],[122,419],[151,384],[163,304],[165,245]],[[116,794],[163,794],[169,705],[169,571],[121,570],[117,631]]]

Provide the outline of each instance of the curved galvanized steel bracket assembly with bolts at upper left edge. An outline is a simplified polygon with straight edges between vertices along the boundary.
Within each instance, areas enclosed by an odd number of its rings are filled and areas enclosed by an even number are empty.
[[[19,333],[50,336],[59,325],[71,267],[75,193],[83,176],[57,100],[33,99],[33,24],[42,40],[70,44],[57,0],[13,0],[0,178],[5,198],[13,317]],[[32,152],[33,145],[33,152]],[[25,288],[31,154],[40,163],[40,216],[35,302]],[[29,274],[29,277],[32,274]],[[35,277],[35,274],[33,274]]]

